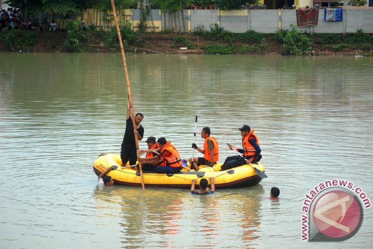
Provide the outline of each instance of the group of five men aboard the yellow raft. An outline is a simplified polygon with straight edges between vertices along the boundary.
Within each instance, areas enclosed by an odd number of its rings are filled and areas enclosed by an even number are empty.
[[[139,141],[144,136],[144,127],[141,121],[144,118],[142,113],[135,115],[135,129],[133,126],[129,104],[126,113],[126,130],[123,136],[120,158],[122,165],[129,162],[130,165],[135,165],[138,160],[141,162],[144,171],[156,171],[159,173],[177,173],[182,170],[182,159],[178,150],[166,138],[160,137],[156,140],[155,137],[148,137],[145,141],[148,145],[148,150],[140,150],[140,153],[146,153],[145,158],[137,158],[137,147],[135,141],[135,133]],[[242,136],[242,149],[235,148],[229,145],[229,149],[236,150],[243,154],[242,156],[228,156],[223,163],[221,170],[231,169],[244,164],[250,164],[260,161],[261,149],[257,135],[249,125],[243,125],[239,128]],[[201,131],[201,137],[204,138],[203,147],[198,147],[192,143],[192,148],[203,154],[203,157],[189,158],[191,168],[199,170],[200,165],[213,166],[219,160],[219,145],[215,137],[210,136],[209,127],[204,127]],[[138,165],[137,165],[138,168]],[[139,173],[139,172],[138,172]]]

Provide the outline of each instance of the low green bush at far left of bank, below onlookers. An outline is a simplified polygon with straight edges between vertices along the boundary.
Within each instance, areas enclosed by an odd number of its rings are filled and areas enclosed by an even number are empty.
[[[15,29],[11,31],[1,31],[0,41],[4,42],[13,50],[26,50],[28,46],[37,43],[38,37],[35,31],[25,31]]]

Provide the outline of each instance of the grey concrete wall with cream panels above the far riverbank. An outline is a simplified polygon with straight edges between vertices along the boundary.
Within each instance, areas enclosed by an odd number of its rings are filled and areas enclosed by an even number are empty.
[[[118,10],[119,19],[127,19],[137,30],[140,21],[140,10]],[[183,15],[182,15],[183,13]],[[110,17],[111,12],[92,14],[84,13],[83,18],[88,25],[101,26],[96,20],[102,16]],[[79,17],[78,17],[79,19]],[[147,16],[147,31],[160,32],[164,29],[177,32],[193,32],[196,27],[204,26],[210,30],[218,24],[225,30],[244,33],[254,30],[261,33],[275,33],[279,28],[290,29],[297,25],[295,10],[183,10],[183,12],[167,13],[151,9]],[[114,27],[114,22],[106,22],[106,27]],[[325,22],[324,9],[319,11],[319,23],[316,26],[298,28],[307,33],[354,33],[363,29],[364,33],[373,33],[373,7],[355,7],[343,10],[342,22]]]

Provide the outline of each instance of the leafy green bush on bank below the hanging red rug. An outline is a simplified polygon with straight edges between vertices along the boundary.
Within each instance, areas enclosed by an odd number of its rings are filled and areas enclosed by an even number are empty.
[[[290,25],[291,29],[283,37],[282,53],[284,55],[308,55],[312,50],[312,43],[307,35],[298,32],[294,24]]]

